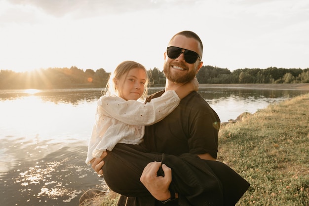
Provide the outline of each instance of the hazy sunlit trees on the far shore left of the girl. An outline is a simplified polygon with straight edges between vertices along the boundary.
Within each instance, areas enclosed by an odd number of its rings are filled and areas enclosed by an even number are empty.
[[[0,89],[53,89],[105,87],[109,73],[104,69],[68,68],[37,69],[26,72],[0,71]]]

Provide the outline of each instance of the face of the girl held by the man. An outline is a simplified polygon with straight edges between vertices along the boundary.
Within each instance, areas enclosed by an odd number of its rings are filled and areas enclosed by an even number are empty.
[[[144,92],[146,72],[144,69],[134,68],[116,81],[118,95],[124,100],[138,100]]]

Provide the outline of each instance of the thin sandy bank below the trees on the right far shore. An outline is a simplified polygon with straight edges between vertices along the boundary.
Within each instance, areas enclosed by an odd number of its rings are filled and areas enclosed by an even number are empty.
[[[309,83],[301,84],[199,84],[200,88],[225,87],[225,88],[246,88],[246,89],[296,89],[309,90]]]

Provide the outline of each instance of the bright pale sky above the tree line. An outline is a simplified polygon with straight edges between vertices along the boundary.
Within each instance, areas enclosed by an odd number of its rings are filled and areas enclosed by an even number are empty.
[[[308,0],[0,0],[0,69],[162,70],[170,38],[203,41],[203,65],[309,68]]]

